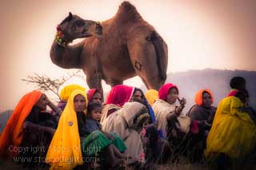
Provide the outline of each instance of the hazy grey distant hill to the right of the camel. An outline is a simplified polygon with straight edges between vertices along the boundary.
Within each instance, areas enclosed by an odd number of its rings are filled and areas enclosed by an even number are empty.
[[[194,105],[194,94],[199,89],[210,89],[214,93],[214,105],[226,97],[230,91],[230,79],[241,76],[246,79],[246,88],[250,93],[250,105],[256,109],[256,71],[202,69],[167,74],[167,82],[178,85],[179,96],[185,97],[187,104],[184,113]],[[146,87],[142,87],[146,91]]]

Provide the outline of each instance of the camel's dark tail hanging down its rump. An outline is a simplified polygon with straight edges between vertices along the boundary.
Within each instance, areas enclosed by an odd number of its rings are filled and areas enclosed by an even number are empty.
[[[166,81],[166,70],[168,63],[168,48],[166,42],[155,31],[150,35],[150,40],[153,42],[154,49],[157,53],[157,64],[159,77],[162,81]]]

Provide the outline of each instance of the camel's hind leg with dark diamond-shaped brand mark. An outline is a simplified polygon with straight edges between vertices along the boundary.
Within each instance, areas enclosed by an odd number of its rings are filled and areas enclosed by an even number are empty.
[[[159,76],[157,53],[153,43],[146,41],[145,34],[138,34],[136,38],[128,39],[127,46],[134,69],[146,88],[158,90],[165,80]]]

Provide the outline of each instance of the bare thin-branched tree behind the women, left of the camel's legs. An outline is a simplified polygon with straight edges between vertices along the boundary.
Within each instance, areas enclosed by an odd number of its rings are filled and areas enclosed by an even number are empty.
[[[81,69],[75,71],[74,73],[68,73],[68,76],[62,76],[59,79],[51,79],[46,75],[39,75],[38,73],[34,73],[32,76],[27,76],[27,78],[22,79],[22,81],[26,81],[27,83],[35,84],[39,90],[43,92],[50,92],[54,94],[54,101],[58,97],[60,100],[60,96],[58,95],[58,89],[66,82],[69,81],[72,77],[79,77],[81,79],[85,79],[84,75],[81,73]]]

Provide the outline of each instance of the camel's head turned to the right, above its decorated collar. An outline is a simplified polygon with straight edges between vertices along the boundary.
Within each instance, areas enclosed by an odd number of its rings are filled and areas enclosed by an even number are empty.
[[[89,38],[95,34],[96,23],[97,22],[91,20],[84,20],[70,13],[69,16],[58,25],[58,30],[70,41],[76,38]]]

